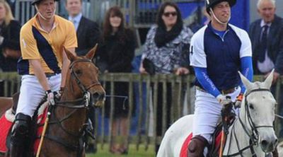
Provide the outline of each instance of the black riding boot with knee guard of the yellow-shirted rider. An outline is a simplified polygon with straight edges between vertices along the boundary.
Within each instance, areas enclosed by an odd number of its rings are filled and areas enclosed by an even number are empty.
[[[11,134],[11,157],[27,157],[30,156],[28,151],[30,148],[29,128],[31,117],[18,113],[13,124]]]

